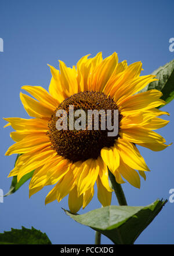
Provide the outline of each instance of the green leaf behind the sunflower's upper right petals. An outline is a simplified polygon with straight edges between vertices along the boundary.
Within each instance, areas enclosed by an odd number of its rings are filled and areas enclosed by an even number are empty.
[[[163,93],[161,99],[165,100],[166,104],[171,102],[174,99],[174,60],[159,67],[152,74],[156,75],[158,81],[151,82],[140,92],[157,89]]]

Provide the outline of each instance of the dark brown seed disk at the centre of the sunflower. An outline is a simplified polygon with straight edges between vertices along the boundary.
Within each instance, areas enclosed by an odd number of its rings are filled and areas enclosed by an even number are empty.
[[[69,106],[74,106],[74,111],[81,109],[86,113],[86,129],[79,130],[68,129],[68,117]],[[57,110],[66,110],[67,112],[67,130],[57,130],[56,122],[59,117],[56,117]],[[100,156],[100,151],[103,147],[111,147],[114,145],[117,136],[108,136],[108,129],[101,130],[101,116],[99,115],[99,129],[95,130],[92,126],[92,130],[88,130],[88,110],[112,110],[112,124],[113,124],[113,110],[117,110],[118,106],[111,99],[110,96],[104,95],[104,93],[86,91],[79,92],[72,95],[70,98],[65,99],[59,107],[55,110],[55,115],[49,121],[48,136],[52,142],[52,147],[57,151],[57,154],[67,158],[70,161],[85,161],[89,158],[97,158]],[[119,113],[119,112],[118,112]],[[76,118],[77,119],[77,118]],[[107,117],[106,117],[107,120]],[[75,118],[74,118],[75,121]],[[118,121],[121,121],[121,114],[118,115]]]

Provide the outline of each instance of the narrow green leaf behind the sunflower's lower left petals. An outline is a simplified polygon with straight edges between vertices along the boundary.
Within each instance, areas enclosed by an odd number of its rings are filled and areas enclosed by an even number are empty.
[[[16,157],[16,161],[17,158],[21,156],[21,154],[18,154]],[[16,164],[15,161],[15,164]],[[14,166],[15,166],[14,164]],[[5,196],[9,196],[9,194],[13,194],[14,192],[16,192],[16,190],[18,190],[26,181],[28,181],[28,179],[30,179],[32,177],[32,174],[34,173],[34,171],[28,172],[28,174],[24,175],[19,182],[17,182],[17,176],[13,176],[12,179],[12,183],[10,185],[10,189],[9,192],[5,194]]]

